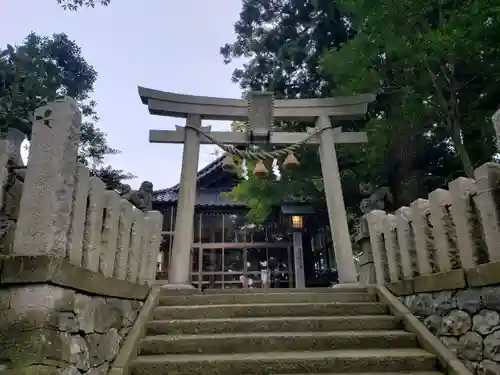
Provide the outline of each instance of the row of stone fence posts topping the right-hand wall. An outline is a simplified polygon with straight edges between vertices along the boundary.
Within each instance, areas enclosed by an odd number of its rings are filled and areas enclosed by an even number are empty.
[[[421,291],[435,288],[438,278],[471,286],[500,282],[486,272],[500,270],[499,194],[500,164],[486,163],[475,179],[460,177],[428,199],[394,213],[368,213],[367,231],[358,241],[364,249],[369,243],[376,282],[412,280]]]

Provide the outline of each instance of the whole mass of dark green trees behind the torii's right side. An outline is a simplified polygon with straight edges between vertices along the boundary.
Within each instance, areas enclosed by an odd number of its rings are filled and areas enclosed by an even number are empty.
[[[360,182],[387,185],[394,197],[388,209],[395,209],[491,160],[499,11],[500,0],[249,0],[235,42],[221,53],[226,62],[248,60],[233,75],[245,90],[284,98],[378,94],[366,119],[340,124],[369,138],[338,148],[346,206],[355,216]],[[306,124],[275,126],[303,131]],[[249,178],[234,195],[253,195],[252,210],[263,213],[269,210],[259,205],[285,194],[322,204],[315,151],[302,150],[300,160],[281,181]]]

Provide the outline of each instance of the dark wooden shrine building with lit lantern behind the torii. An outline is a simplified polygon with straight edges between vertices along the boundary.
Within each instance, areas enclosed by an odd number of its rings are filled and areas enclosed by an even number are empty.
[[[191,283],[199,288],[261,287],[261,270],[271,270],[271,287],[328,286],[336,281],[328,214],[303,200],[287,200],[263,225],[246,220],[248,208],[224,193],[238,184],[218,158],[197,174],[191,247]],[[153,209],[164,216],[157,279],[168,279],[179,184],[153,193]]]

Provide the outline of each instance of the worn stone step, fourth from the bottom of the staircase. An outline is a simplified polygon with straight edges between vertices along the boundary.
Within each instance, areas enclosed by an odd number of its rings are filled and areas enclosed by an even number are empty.
[[[204,306],[158,306],[154,320],[244,318],[264,316],[330,316],[387,314],[385,304],[376,302],[268,303]]]

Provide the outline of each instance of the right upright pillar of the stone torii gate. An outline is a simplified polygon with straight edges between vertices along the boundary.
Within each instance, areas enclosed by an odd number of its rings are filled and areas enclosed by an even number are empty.
[[[358,277],[354,266],[351,237],[349,236],[342,183],[335,151],[334,130],[327,116],[318,117],[316,127],[319,129],[325,128],[319,134],[319,156],[335,259],[337,260],[339,283],[357,283]]]

